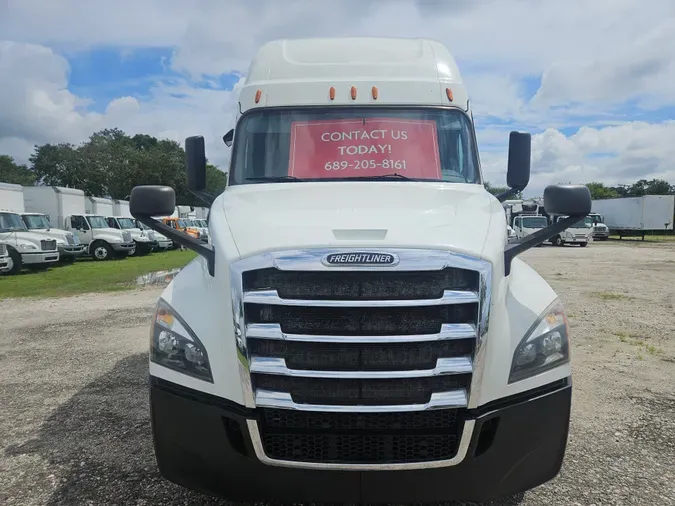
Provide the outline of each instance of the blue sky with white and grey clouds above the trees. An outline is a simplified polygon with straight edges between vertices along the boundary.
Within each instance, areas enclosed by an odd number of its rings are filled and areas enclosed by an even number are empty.
[[[474,108],[484,177],[530,132],[526,196],[560,182],[675,184],[673,0],[0,0],[0,154],[117,127],[204,135],[226,169],[251,58],[277,38],[428,37]]]

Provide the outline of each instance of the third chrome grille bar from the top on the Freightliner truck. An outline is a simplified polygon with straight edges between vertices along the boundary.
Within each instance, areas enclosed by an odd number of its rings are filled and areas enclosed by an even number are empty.
[[[289,369],[286,360],[272,357],[252,357],[251,373],[278,374],[300,378],[337,378],[337,379],[395,379],[395,378],[429,378],[448,374],[466,374],[473,370],[471,357],[439,358],[436,367],[422,370],[398,371],[317,371]]]

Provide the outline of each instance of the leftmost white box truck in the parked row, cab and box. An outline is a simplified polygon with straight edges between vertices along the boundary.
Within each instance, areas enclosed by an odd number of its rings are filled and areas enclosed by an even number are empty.
[[[47,269],[59,260],[57,240],[30,231],[21,218],[23,210],[23,187],[0,183],[0,242],[9,256],[5,266],[0,266],[3,273],[16,274],[23,267]]]

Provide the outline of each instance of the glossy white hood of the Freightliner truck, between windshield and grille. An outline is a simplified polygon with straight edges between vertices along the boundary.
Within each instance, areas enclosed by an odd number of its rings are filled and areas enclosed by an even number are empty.
[[[221,198],[242,257],[274,249],[366,246],[447,248],[482,256],[492,216],[503,214],[478,184],[252,184],[230,187]]]

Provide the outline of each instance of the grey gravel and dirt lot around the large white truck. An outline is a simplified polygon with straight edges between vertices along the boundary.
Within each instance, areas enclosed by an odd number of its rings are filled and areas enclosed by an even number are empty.
[[[541,247],[574,399],[560,476],[503,506],[675,505],[675,244]],[[147,405],[160,290],[0,302],[0,504],[222,504],[159,477]]]

